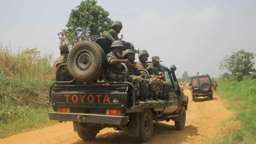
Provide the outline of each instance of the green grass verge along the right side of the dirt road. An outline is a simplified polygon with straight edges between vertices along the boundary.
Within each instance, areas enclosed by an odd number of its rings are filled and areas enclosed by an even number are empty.
[[[235,117],[228,123],[238,121],[223,133],[221,140],[212,140],[211,143],[255,143],[256,141],[256,79],[244,76],[244,80],[218,79],[216,94],[224,100],[224,105],[234,111]],[[228,124],[226,123],[226,124]]]

